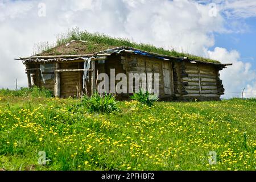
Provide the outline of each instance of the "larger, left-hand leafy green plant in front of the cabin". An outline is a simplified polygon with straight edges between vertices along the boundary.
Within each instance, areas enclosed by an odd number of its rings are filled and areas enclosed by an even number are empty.
[[[113,111],[120,111],[112,94],[101,96],[96,92],[90,97],[84,96],[82,105],[86,106],[89,112],[112,113]]]

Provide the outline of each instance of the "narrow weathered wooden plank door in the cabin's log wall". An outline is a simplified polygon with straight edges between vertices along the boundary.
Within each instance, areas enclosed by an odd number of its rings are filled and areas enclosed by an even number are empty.
[[[163,80],[164,80],[164,94],[171,95],[172,94],[171,63],[167,61],[163,61]]]

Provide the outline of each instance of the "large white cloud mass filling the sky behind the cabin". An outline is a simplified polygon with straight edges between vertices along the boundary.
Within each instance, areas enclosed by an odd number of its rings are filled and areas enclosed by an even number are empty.
[[[39,3],[46,5],[45,17],[38,16]],[[231,70],[245,75],[246,70],[252,71],[250,65],[238,61],[240,56],[236,51],[228,52],[222,48],[208,51],[214,46],[214,33],[228,31],[225,25],[220,11],[209,16],[209,6],[197,1],[4,0],[0,2],[0,40],[3,42],[0,44],[0,88],[14,88],[16,78],[19,86],[26,86],[24,65],[13,58],[31,55],[34,43],[53,43],[57,34],[72,27],[223,61],[236,61],[237,66],[223,71],[226,86],[233,80],[228,77]],[[241,68],[238,69],[238,65]],[[236,85],[247,84],[247,90],[254,90],[252,82],[253,78],[250,78]]]

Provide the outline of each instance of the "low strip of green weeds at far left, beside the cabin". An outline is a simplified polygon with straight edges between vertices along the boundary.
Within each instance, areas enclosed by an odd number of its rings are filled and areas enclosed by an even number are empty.
[[[20,88],[20,90],[0,89],[0,96],[10,97],[52,97],[52,92],[45,89],[34,86],[32,88]]]

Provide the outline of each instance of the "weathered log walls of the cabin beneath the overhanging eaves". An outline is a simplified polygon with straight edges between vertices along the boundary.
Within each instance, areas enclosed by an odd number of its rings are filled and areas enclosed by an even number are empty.
[[[119,55],[108,56],[105,61],[96,61],[96,81],[97,75],[107,73],[110,81],[110,69],[115,69],[115,76],[118,73],[125,73],[129,78],[129,73],[158,73],[159,74],[159,98],[161,100],[220,100],[224,94],[222,80],[220,80],[219,71],[222,69],[216,65],[189,63],[177,60],[161,60],[154,57],[133,55],[130,53],[121,53]],[[54,65],[54,63],[53,63]],[[40,72],[40,64],[28,64],[32,83],[39,87],[44,87],[54,93],[55,77],[43,81]],[[83,69],[84,62],[60,63],[59,69]],[[168,69],[170,68],[170,71]],[[86,88],[82,89],[83,72],[61,72],[60,73],[60,92],[61,97],[76,97],[82,93],[90,95],[92,93],[91,77],[86,81]],[[169,81],[166,78],[169,77]],[[115,81],[115,85],[119,81]],[[154,77],[152,78],[152,87],[154,88]],[[168,82],[168,84],[166,84]],[[97,84],[96,83],[96,88]],[[127,80],[127,92],[129,85]],[[170,87],[170,88],[169,88]],[[110,85],[109,85],[110,89]],[[131,94],[117,94],[118,100],[127,100]],[[175,96],[175,97],[174,97]]]

